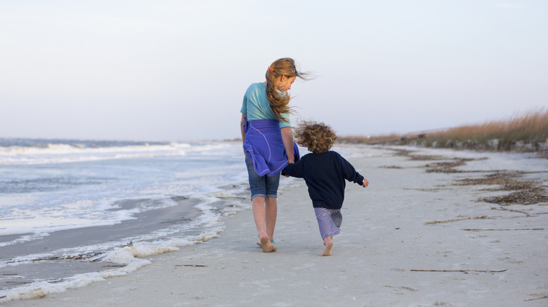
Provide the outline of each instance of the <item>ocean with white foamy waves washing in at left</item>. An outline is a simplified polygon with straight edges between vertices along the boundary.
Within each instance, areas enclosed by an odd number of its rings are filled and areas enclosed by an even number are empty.
[[[0,303],[216,238],[248,198],[241,142],[0,139]]]

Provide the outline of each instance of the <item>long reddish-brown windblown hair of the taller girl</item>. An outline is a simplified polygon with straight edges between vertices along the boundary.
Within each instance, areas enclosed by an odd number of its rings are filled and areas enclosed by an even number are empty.
[[[270,103],[270,109],[272,109],[278,121],[287,123],[287,119],[282,118],[281,114],[291,111],[291,107],[289,107],[289,100],[291,100],[289,93],[282,93],[280,95],[280,92],[276,90],[278,79],[280,76],[287,76],[287,78],[296,76],[306,80],[306,75],[306,73],[296,70],[295,61],[290,57],[282,57],[275,60],[270,64],[270,68],[266,69],[266,97]]]

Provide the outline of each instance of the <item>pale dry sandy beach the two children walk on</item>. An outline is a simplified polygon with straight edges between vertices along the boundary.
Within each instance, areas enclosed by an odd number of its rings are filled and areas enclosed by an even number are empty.
[[[370,150],[348,159],[370,186],[347,184],[331,257],[304,181],[282,178],[277,252],[255,245],[247,209],[129,275],[5,306],[548,306],[547,159]],[[503,173],[540,186],[540,202],[496,203],[513,191],[470,182]]]

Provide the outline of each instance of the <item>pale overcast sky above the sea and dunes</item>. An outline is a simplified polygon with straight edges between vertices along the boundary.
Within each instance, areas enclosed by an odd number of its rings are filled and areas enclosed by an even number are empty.
[[[293,118],[379,135],[548,106],[548,1],[0,0],[0,137],[240,137],[268,65]]]

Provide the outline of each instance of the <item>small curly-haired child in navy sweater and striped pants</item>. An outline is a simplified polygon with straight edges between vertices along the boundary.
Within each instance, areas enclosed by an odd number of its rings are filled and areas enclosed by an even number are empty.
[[[342,222],[345,179],[364,188],[369,182],[339,153],[330,151],[337,135],[329,125],[304,121],[295,129],[294,137],[297,144],[311,153],[287,165],[282,175],[303,178],[306,182],[325,245],[322,256],[331,256],[333,236],[340,232]]]

